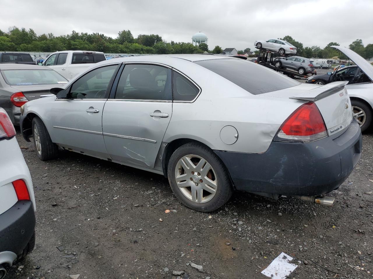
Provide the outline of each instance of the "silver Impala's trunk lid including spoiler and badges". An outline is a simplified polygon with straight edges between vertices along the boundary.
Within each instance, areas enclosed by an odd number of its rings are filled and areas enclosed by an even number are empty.
[[[324,86],[300,84],[263,95],[316,103],[323,116],[327,133],[332,135],[347,128],[352,121],[351,102],[345,84],[346,81],[336,81]]]

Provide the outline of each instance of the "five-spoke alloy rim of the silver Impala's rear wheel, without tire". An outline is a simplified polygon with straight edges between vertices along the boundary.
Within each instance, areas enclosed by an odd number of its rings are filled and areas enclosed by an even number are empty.
[[[192,202],[211,201],[218,187],[217,176],[210,163],[198,155],[185,155],[176,164],[176,185]]]

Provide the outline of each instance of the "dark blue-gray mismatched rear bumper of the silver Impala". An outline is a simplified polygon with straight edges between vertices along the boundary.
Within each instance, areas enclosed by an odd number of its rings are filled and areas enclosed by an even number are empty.
[[[237,190],[314,196],[337,189],[361,156],[356,121],[341,135],[304,143],[273,141],[265,153],[215,151]]]

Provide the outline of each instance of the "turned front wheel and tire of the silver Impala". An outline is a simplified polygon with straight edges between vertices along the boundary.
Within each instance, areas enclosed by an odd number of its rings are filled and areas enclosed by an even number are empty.
[[[58,146],[50,139],[48,130],[40,118],[32,119],[32,137],[35,151],[42,161],[52,160],[58,156]]]

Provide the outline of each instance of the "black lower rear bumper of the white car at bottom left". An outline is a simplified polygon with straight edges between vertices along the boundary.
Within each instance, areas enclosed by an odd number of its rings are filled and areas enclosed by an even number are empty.
[[[0,253],[8,251],[22,254],[34,231],[35,212],[32,202],[16,202],[0,215]]]

